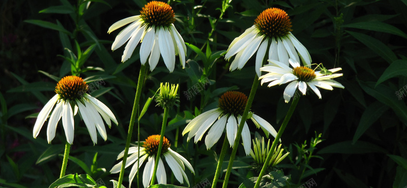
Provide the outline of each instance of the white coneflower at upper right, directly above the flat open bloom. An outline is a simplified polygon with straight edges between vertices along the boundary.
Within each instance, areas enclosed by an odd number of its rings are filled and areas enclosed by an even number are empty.
[[[236,55],[229,70],[242,69],[249,58],[257,51],[255,69],[260,77],[260,68],[268,51],[271,60],[278,60],[288,65],[288,58],[305,65],[311,64],[311,57],[307,49],[291,34],[292,24],[285,11],[278,8],[269,8],[261,12],[254,20],[254,25],[232,41],[227,49],[225,59]],[[267,48],[270,46],[269,48]]]

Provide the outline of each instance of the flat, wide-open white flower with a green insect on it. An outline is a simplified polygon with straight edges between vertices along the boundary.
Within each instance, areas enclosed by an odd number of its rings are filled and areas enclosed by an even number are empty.
[[[315,72],[308,67],[300,66],[300,63],[293,59],[289,59],[289,64],[291,64],[293,68],[288,67],[280,61],[271,60],[270,62],[270,65],[260,68],[260,71],[268,73],[261,76],[259,79],[261,79],[262,85],[265,82],[270,82],[268,85],[269,87],[290,82],[284,89],[283,97],[286,103],[288,103],[289,100],[294,96],[297,88],[303,93],[303,95],[305,95],[308,86],[315,92],[319,99],[321,99],[321,92],[319,92],[317,87],[328,90],[332,90],[333,87],[344,88],[342,84],[332,80],[332,78],[343,75],[332,74],[342,70],[341,68],[328,70],[330,74],[322,74],[322,71]],[[324,72],[328,71],[325,70]]]

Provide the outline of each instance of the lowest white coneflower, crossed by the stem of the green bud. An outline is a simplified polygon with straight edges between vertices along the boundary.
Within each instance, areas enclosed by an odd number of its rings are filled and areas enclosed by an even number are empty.
[[[153,176],[153,170],[154,170],[154,165],[155,165],[155,159],[158,151],[158,144],[160,142],[160,135],[152,135],[149,136],[146,139],[146,142],[143,143],[143,146],[140,147],[140,153],[138,153],[138,147],[130,147],[129,148],[129,158],[127,158],[126,161],[126,168],[129,167],[131,164],[134,164],[133,167],[131,168],[129,179],[129,187],[131,187],[131,182],[133,181],[135,175],[137,174],[137,160],[138,160],[138,154],[140,154],[140,161],[139,164],[140,166],[144,163],[144,161],[147,161],[146,167],[144,167],[144,172],[143,172],[143,185],[144,187],[147,187],[150,185],[151,178]],[[169,144],[169,141],[167,138],[164,137],[163,139],[163,145],[162,145],[162,150],[161,150],[161,155],[160,155],[160,161],[158,162],[158,168],[157,168],[157,180],[158,183],[160,184],[166,184],[167,182],[167,174],[165,172],[164,168],[164,163],[163,159],[167,162],[169,168],[171,169],[172,173],[174,173],[174,176],[180,183],[184,183],[184,178],[188,183],[189,186],[189,181],[187,178],[187,175],[185,174],[185,166],[191,170],[192,173],[194,172],[194,169],[192,168],[191,164],[180,154],[177,152],[173,151],[171,148],[169,148],[171,144]],[[124,156],[124,151],[122,151],[119,156],[118,160],[123,158]],[[120,172],[120,169],[122,167],[123,161],[120,163],[116,164],[113,166],[113,168],[110,170],[110,173],[118,173]],[[185,165],[185,166],[184,166]]]

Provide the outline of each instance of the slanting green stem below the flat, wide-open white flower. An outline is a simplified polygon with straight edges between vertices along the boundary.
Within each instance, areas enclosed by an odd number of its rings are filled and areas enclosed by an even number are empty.
[[[277,136],[276,136],[276,138],[274,138],[274,141],[273,141],[273,144],[271,145],[269,154],[267,155],[266,162],[264,163],[263,168],[261,168],[260,174],[258,175],[254,188],[257,188],[260,185],[261,178],[264,176],[264,174],[266,173],[266,170],[268,168],[268,165],[266,165],[266,164],[270,163],[271,156],[273,155],[273,152],[276,149],[277,143],[280,140],[281,135],[283,134],[283,132],[285,130],[285,127],[287,127],[287,123],[288,123],[289,119],[291,118],[291,116],[293,115],[294,110],[296,109],[298,101],[300,100],[300,95],[298,93],[295,93],[294,96],[295,97],[293,99],[293,102],[291,103],[291,106],[288,109],[287,115],[285,115],[284,121],[281,124],[280,129],[278,130]]]

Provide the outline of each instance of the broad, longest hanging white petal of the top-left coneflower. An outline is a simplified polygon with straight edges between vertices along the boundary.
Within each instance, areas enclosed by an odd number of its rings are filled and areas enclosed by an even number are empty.
[[[163,27],[160,27],[158,29],[158,43],[165,66],[167,66],[169,72],[172,73],[175,68],[175,51],[174,43],[172,41],[169,30]]]

